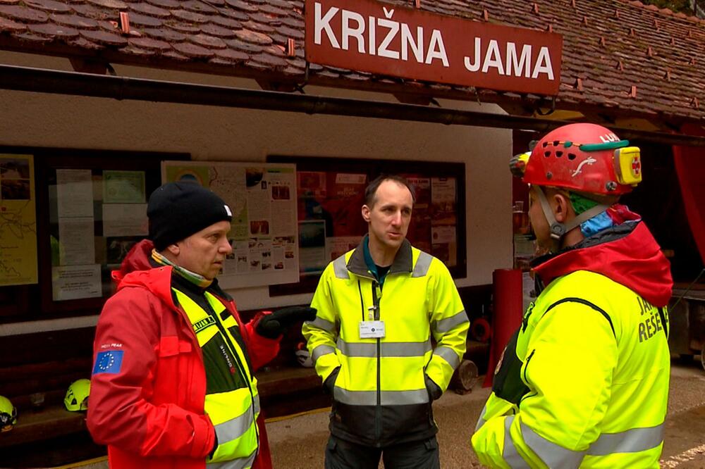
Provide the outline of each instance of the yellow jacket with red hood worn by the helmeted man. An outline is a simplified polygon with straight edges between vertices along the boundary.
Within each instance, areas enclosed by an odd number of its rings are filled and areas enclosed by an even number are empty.
[[[483,464],[658,468],[672,282],[646,227],[631,229],[537,268],[548,286],[505,349],[472,437]]]

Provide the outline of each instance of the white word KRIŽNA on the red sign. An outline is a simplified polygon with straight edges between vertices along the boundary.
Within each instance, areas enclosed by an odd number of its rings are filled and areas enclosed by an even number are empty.
[[[322,44],[325,34],[333,49],[357,49],[360,54],[402,61],[415,60],[425,64],[439,60],[443,67],[448,67],[448,54],[441,31],[434,29],[429,34],[423,26],[410,27],[393,20],[394,8],[383,6],[382,10],[384,18],[372,15],[364,18],[360,13],[345,9],[341,11],[336,6],[331,6],[324,13],[321,4],[315,2],[314,43]],[[333,22],[340,22],[340,40],[331,26]]]

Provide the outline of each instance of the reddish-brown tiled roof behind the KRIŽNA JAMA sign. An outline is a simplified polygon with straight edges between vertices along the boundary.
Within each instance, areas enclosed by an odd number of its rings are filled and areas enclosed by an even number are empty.
[[[305,79],[303,6],[302,0],[0,0],[0,49],[255,77],[276,87]],[[705,117],[705,20],[623,0],[421,0],[420,8],[563,35],[558,108]],[[129,31],[121,29],[121,12],[128,13]],[[520,99],[314,64],[308,83]]]

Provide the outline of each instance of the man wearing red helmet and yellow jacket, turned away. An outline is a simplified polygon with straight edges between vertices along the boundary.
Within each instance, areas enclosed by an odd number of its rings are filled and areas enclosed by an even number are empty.
[[[548,254],[539,296],[497,366],[472,446],[499,468],[658,468],[673,280],[639,215],[639,149],[593,124],[549,132],[510,163],[531,185]]]

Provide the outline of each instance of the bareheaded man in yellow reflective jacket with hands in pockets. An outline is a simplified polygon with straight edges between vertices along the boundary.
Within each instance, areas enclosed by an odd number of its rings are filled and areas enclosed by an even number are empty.
[[[405,239],[413,192],[398,176],[365,191],[368,233],[330,263],[303,334],[333,396],[326,468],[439,468],[431,402],[465,354],[468,321],[439,259]],[[431,342],[434,339],[435,348]]]

